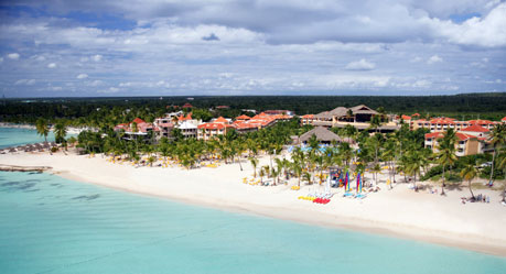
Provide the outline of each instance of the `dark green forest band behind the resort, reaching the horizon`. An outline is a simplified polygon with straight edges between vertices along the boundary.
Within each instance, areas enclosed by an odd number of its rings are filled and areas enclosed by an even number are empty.
[[[0,121],[34,124],[39,118],[54,123],[68,120],[68,125],[97,127],[101,121],[112,124],[130,122],[139,117],[148,122],[174,110],[171,106],[183,106],[185,97],[134,97],[134,98],[55,98],[55,99],[7,99],[0,108]],[[506,92],[471,94],[456,96],[244,96],[244,97],[195,97],[190,101],[196,109],[193,114],[204,121],[212,117],[237,117],[247,109],[259,111],[282,109],[299,116],[319,113],[335,107],[366,105],[384,113],[422,117],[446,116],[456,119],[500,120],[506,113]],[[216,109],[229,106],[229,109]],[[212,109],[209,111],[209,109]],[[190,109],[185,109],[185,112]]]

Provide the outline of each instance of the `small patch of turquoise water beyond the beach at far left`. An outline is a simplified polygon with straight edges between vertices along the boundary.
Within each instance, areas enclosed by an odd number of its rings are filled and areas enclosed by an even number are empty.
[[[53,141],[54,134],[50,132],[47,134],[47,142]],[[0,128],[0,149],[40,142],[44,142],[44,136],[39,135],[36,130]]]

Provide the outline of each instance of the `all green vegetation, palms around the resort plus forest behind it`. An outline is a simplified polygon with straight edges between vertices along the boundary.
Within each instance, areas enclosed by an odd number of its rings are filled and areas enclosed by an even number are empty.
[[[77,146],[84,153],[105,153],[120,157],[134,164],[153,165],[160,157],[163,162],[172,160],[185,168],[196,168],[201,163],[220,161],[224,164],[239,163],[249,158],[255,176],[263,182],[272,178],[279,184],[282,178],[294,176],[308,184],[322,183],[323,173],[334,167],[342,167],[353,173],[369,171],[372,180],[377,182],[381,169],[388,172],[389,180],[396,176],[417,180],[441,180],[442,194],[446,182],[467,180],[470,187],[475,177],[488,178],[493,182],[504,179],[506,174],[506,136],[505,127],[497,125],[492,132],[494,153],[472,155],[457,158],[455,156],[455,134],[448,131],[440,142],[439,153],[433,154],[423,147],[427,129],[410,131],[407,124],[394,133],[369,135],[367,131],[357,131],[353,127],[332,129],[341,136],[351,139],[357,144],[354,150],[348,143],[332,144],[325,150],[319,147],[317,140],[311,138],[310,150],[295,147],[291,160],[280,158],[284,145],[291,142],[290,136],[301,135],[311,130],[311,125],[300,125],[298,118],[288,122],[279,122],[273,127],[256,132],[238,134],[229,130],[204,142],[184,139],[181,131],[174,129],[172,138],[162,138],[154,142],[154,135],[148,139],[126,140],[125,132],[114,131],[118,123],[131,122],[141,118],[151,122],[168,111],[179,110],[174,106],[187,102],[183,97],[171,98],[95,98],[95,99],[47,99],[25,102],[10,99],[0,109],[0,119],[10,122],[29,122],[36,124],[40,135],[47,136],[50,124],[54,125],[56,142],[65,147],[67,144]],[[422,116],[445,114],[459,119],[493,119],[498,120],[506,113],[506,94],[462,95],[440,97],[195,97],[191,101],[196,108],[183,109],[192,111],[193,118],[208,121],[213,117],[237,117],[249,109],[287,109],[299,114],[317,113],[337,106],[351,107],[359,103],[377,108],[381,116],[372,121],[372,131],[385,122],[385,113],[413,113]],[[230,108],[216,109],[216,106]],[[476,113],[470,117],[469,113]],[[96,131],[83,131],[77,140],[66,140],[66,128],[69,125],[93,127]],[[136,124],[133,123],[133,130]],[[258,155],[269,157],[269,164],[259,166]],[[492,162],[491,165],[483,163]],[[391,187],[391,185],[390,185]],[[506,187],[506,184],[505,184]],[[472,191],[472,189],[470,189]],[[473,195],[473,194],[472,194]]]

